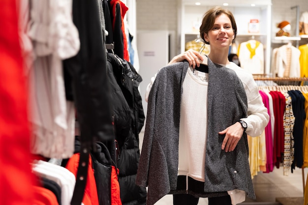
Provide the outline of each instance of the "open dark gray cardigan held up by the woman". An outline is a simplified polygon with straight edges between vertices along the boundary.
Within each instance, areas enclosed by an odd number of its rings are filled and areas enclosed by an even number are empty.
[[[233,189],[255,199],[249,163],[247,135],[234,151],[221,150],[224,135],[218,132],[247,116],[246,92],[236,73],[208,59],[208,136],[204,191],[215,197]],[[143,146],[136,183],[148,186],[147,205],[176,193],[179,158],[179,126],[186,61],[159,70],[151,88]],[[193,123],[193,122],[191,122]]]

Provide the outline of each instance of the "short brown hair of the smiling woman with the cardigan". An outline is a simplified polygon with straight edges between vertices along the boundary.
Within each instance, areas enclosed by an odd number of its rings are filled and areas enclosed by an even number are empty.
[[[211,8],[210,10],[208,10],[203,15],[202,24],[200,26],[200,36],[206,44],[209,44],[209,42],[205,41],[204,33],[208,34],[209,30],[211,30],[215,24],[215,19],[221,14],[225,14],[229,17],[231,21],[232,29],[234,31],[234,38],[236,37],[237,27],[236,27],[234,16],[231,13],[231,11],[229,11],[228,9],[224,9],[221,6],[215,6]]]

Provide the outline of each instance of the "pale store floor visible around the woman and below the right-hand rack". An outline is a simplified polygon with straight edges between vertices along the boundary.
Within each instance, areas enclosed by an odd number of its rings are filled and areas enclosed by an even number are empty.
[[[140,144],[143,141],[143,132],[140,133]],[[140,145],[141,147],[141,145]],[[303,176],[306,181],[308,169],[296,168],[289,176],[283,176],[283,169],[275,168],[272,173],[258,173],[252,179],[256,200],[246,198],[243,205],[303,205]],[[241,204],[241,205],[242,205]],[[173,205],[172,195],[166,195],[155,205]],[[206,198],[200,198],[198,205],[208,205]]]

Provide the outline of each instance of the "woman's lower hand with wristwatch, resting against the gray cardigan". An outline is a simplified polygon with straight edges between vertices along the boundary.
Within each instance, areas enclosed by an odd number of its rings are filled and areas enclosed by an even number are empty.
[[[222,141],[221,149],[225,150],[225,152],[233,151],[242,138],[243,133],[244,128],[240,122],[236,122],[235,124],[227,127],[225,130],[220,131],[220,135],[226,134]]]

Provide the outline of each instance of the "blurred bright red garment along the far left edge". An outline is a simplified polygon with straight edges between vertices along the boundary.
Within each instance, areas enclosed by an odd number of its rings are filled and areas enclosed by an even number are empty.
[[[2,0],[0,6],[0,199],[3,205],[32,205],[26,62],[18,35],[16,12],[21,5],[17,2]]]

